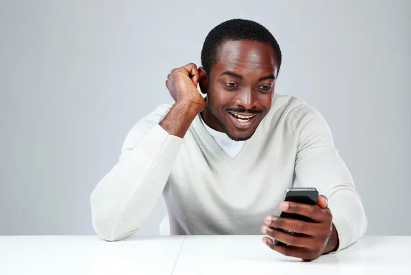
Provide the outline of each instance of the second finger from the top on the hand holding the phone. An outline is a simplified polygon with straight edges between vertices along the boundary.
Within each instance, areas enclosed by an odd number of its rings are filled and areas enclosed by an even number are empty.
[[[305,222],[303,220],[290,218],[280,218],[274,215],[266,216],[264,222],[271,228],[284,229],[304,235],[315,236],[325,233],[325,230],[323,230],[324,226],[321,223]]]

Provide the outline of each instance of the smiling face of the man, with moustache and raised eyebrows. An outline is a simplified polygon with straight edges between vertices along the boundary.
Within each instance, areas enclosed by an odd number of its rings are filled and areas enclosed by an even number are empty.
[[[200,88],[207,94],[201,116],[232,140],[248,140],[271,108],[277,62],[268,43],[225,42],[210,74],[201,68]]]

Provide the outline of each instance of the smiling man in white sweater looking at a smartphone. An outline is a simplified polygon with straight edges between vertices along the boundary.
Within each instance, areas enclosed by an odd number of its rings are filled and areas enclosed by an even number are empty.
[[[175,103],[129,131],[119,162],[92,192],[95,231],[109,241],[131,235],[163,194],[173,235],[263,233],[273,250],[306,260],[357,241],[366,216],[351,174],[319,112],[274,94],[281,62],[277,41],[258,23],[212,29],[203,66],[171,71]],[[297,180],[319,190],[317,205],[282,202]]]

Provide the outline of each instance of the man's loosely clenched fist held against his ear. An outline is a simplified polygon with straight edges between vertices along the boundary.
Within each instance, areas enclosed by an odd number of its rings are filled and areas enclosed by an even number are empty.
[[[199,112],[204,108],[203,96],[197,90],[200,77],[203,73],[196,64],[189,63],[186,66],[175,68],[167,76],[166,87],[175,102],[186,102],[199,107]]]

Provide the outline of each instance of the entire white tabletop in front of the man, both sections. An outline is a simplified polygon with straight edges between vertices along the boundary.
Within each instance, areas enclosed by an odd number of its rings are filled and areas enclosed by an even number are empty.
[[[410,274],[410,237],[363,237],[312,262],[284,257],[262,236],[0,237],[0,274]]]

